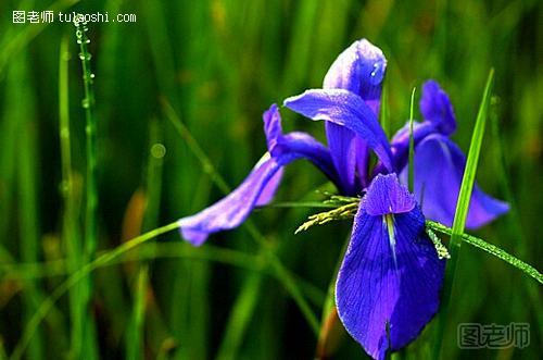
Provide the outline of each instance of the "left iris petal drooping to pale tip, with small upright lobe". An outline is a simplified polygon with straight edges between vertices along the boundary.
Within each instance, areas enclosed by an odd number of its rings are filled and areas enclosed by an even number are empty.
[[[227,197],[179,220],[182,237],[192,245],[203,244],[210,234],[239,226],[255,207],[272,201],[281,181],[282,166],[294,160],[308,159],[331,181],[338,179],[330,153],[320,142],[304,133],[282,134],[277,105],[272,105],[263,117],[269,152]]]

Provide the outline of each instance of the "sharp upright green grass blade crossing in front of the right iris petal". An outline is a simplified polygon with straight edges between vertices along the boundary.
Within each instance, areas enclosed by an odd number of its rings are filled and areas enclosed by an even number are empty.
[[[438,332],[433,348],[433,359],[439,359],[441,353],[441,346],[443,343],[443,336],[449,315],[449,307],[451,303],[451,297],[453,291],[454,275],[456,272],[459,249],[462,245],[462,235],[464,234],[466,219],[469,210],[469,202],[471,199],[471,191],[473,189],[475,176],[477,172],[477,165],[479,162],[481,144],[484,135],[484,127],[488,117],[488,109],[489,109],[493,82],[494,82],[494,70],[492,69],[489,73],[487,86],[484,87],[484,94],[482,96],[481,104],[479,107],[479,112],[477,114],[473,134],[471,136],[471,144],[469,146],[469,152],[466,161],[466,169],[464,171],[464,177],[462,179],[458,200],[456,202],[456,212],[454,215],[451,243],[449,246],[449,252],[451,253],[451,259],[447,261],[445,270],[445,280],[442,293],[443,294],[442,305],[438,316]]]

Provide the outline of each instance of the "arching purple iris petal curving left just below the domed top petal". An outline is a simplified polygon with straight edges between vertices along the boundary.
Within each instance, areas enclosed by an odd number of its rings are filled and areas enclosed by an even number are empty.
[[[376,114],[351,91],[314,89],[288,98],[285,105],[312,120],[325,120],[354,132],[376,152],[384,166],[392,171],[389,141]]]

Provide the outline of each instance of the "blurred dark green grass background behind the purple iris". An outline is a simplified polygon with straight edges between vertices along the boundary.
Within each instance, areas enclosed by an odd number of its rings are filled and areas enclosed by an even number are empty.
[[[262,112],[320,87],[336,57],[365,37],[388,58],[392,129],[408,117],[412,88],[434,78],[453,101],[454,139],[464,150],[487,75],[495,67],[492,124],[478,181],[491,195],[512,201],[514,210],[476,235],[541,270],[541,1],[2,0],[0,358],[12,353],[30,316],[85,259],[85,113],[75,29],[56,17],[51,24],[14,24],[12,18],[16,10],[51,7],[108,12],[110,18],[137,15],[136,23],[89,24],[99,255],[219,199],[217,174],[230,187],[239,184],[266,150]],[[70,137],[60,132],[63,109]],[[324,139],[321,124],[287,110],[282,114],[287,129]],[[66,151],[61,158],[61,134],[70,139],[71,159]],[[213,166],[202,166],[191,139]],[[295,163],[277,199],[321,199],[314,190],[325,183],[311,165]],[[319,318],[351,224],[294,236],[315,211],[263,209],[248,226],[215,235],[199,249],[180,241],[176,232],[161,236],[61,297],[24,357],[311,359],[316,336],[266,253],[280,259]],[[539,286],[464,246],[443,358],[538,359],[543,338]],[[465,322],[527,322],[531,345],[460,351],[456,326]],[[434,322],[403,358],[428,357],[433,327]],[[365,357],[341,327],[337,332],[337,349],[327,350],[332,357]]]

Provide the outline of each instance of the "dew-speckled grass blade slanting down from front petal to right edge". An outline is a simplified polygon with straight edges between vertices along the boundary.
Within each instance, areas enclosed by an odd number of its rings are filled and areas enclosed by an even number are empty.
[[[431,229],[434,229],[437,232],[440,232],[440,233],[443,233],[446,235],[453,234],[452,228],[446,227],[445,225],[433,222],[433,221],[427,221],[427,226],[429,226]],[[498,258],[500,260],[503,260],[503,261],[507,262],[508,264],[517,268],[518,270],[523,272],[526,275],[532,277],[533,280],[535,280],[540,284],[543,284],[543,274],[541,274],[532,265],[530,265],[530,264],[523,262],[522,260],[509,255],[508,252],[506,252],[502,248],[500,248],[495,245],[489,244],[489,243],[484,241],[483,239],[471,236],[469,234],[462,234],[460,240],[463,243],[467,243],[476,248],[479,248],[483,251],[487,251],[488,253]]]

